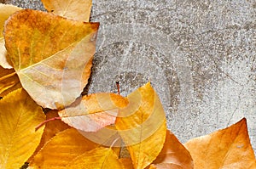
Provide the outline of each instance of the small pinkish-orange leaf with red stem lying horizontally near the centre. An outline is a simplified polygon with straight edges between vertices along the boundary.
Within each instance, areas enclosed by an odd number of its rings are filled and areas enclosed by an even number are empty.
[[[127,100],[114,93],[95,93],[83,96],[65,110],[59,111],[61,120],[84,132],[96,132],[113,124],[120,108]]]

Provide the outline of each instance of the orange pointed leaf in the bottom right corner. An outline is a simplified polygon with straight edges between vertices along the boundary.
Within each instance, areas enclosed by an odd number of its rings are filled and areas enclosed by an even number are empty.
[[[241,121],[212,134],[193,138],[185,146],[194,160],[195,169],[255,169],[256,161],[247,132]]]

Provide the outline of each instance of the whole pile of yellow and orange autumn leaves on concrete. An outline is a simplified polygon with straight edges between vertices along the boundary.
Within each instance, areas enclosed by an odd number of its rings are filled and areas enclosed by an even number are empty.
[[[48,13],[0,4],[0,168],[256,168],[245,118],[181,144],[149,82],[127,97],[81,96],[92,3],[42,2]]]

